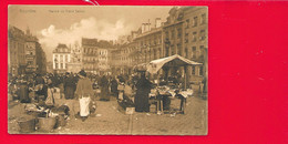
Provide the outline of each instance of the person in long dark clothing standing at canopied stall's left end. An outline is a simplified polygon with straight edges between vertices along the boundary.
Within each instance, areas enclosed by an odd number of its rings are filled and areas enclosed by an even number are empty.
[[[145,73],[141,74],[141,79],[136,83],[135,111],[150,112],[148,94],[152,83],[145,78]]]

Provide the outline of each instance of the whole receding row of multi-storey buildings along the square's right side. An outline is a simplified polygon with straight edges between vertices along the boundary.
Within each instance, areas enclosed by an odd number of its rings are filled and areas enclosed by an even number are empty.
[[[168,14],[164,23],[157,18],[155,28],[150,22],[143,23],[136,37],[121,45],[122,68],[130,73],[136,64],[178,54],[203,65],[172,68],[167,75],[186,73],[187,84],[198,86],[207,78],[207,8],[174,7]]]

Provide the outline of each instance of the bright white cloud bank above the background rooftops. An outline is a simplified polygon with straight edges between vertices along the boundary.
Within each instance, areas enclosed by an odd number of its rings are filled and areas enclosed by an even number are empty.
[[[115,23],[105,20],[96,20],[91,17],[82,19],[80,22],[71,24],[69,29],[58,29],[51,24],[49,28],[39,32],[39,42],[42,44],[48,60],[52,55],[53,49],[58,43],[73,44],[81,42],[81,38],[96,38],[99,40],[116,40],[120,35],[128,34],[133,27],[124,24],[124,20],[117,20]]]

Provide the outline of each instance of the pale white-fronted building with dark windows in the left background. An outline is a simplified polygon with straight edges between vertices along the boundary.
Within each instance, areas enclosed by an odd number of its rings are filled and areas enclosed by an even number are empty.
[[[71,49],[65,44],[59,43],[53,50],[53,71],[56,73],[65,73],[68,63],[71,61]]]

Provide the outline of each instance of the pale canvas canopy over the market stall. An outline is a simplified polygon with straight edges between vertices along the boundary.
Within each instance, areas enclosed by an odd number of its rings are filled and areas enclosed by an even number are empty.
[[[173,68],[173,66],[186,66],[186,65],[200,65],[202,63],[191,61],[186,58],[183,58],[178,54],[153,60],[147,64],[147,72],[155,74],[162,68]]]

